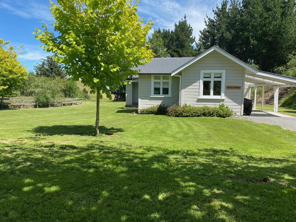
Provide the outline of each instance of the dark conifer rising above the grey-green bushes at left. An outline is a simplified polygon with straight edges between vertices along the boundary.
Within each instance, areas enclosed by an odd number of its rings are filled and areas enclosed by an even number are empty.
[[[49,78],[65,78],[65,69],[61,63],[54,60],[55,57],[57,57],[57,54],[54,54],[54,56],[47,56],[46,59],[41,59],[41,63],[38,63],[34,67],[36,75]]]

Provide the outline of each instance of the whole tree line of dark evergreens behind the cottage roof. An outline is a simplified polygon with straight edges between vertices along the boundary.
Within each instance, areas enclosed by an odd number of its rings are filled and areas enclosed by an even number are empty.
[[[148,42],[156,57],[192,57],[217,45],[260,70],[296,76],[286,65],[295,60],[295,6],[295,0],[223,0],[197,41],[185,15],[174,30],[154,30]]]

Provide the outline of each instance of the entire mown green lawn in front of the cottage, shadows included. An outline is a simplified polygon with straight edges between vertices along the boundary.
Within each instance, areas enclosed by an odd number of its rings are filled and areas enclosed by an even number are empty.
[[[295,221],[296,133],[101,102],[0,110],[0,221]]]

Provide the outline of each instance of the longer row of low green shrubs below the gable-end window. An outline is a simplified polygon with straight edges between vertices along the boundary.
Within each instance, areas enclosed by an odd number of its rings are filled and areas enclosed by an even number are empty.
[[[233,111],[229,107],[221,104],[219,107],[193,107],[191,105],[184,104],[173,104],[167,108],[167,115],[173,117],[221,117],[226,118],[233,115]]]

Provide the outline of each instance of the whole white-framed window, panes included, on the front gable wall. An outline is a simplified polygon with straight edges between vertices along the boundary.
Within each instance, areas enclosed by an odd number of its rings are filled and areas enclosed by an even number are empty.
[[[225,70],[200,70],[199,98],[224,98]]]

